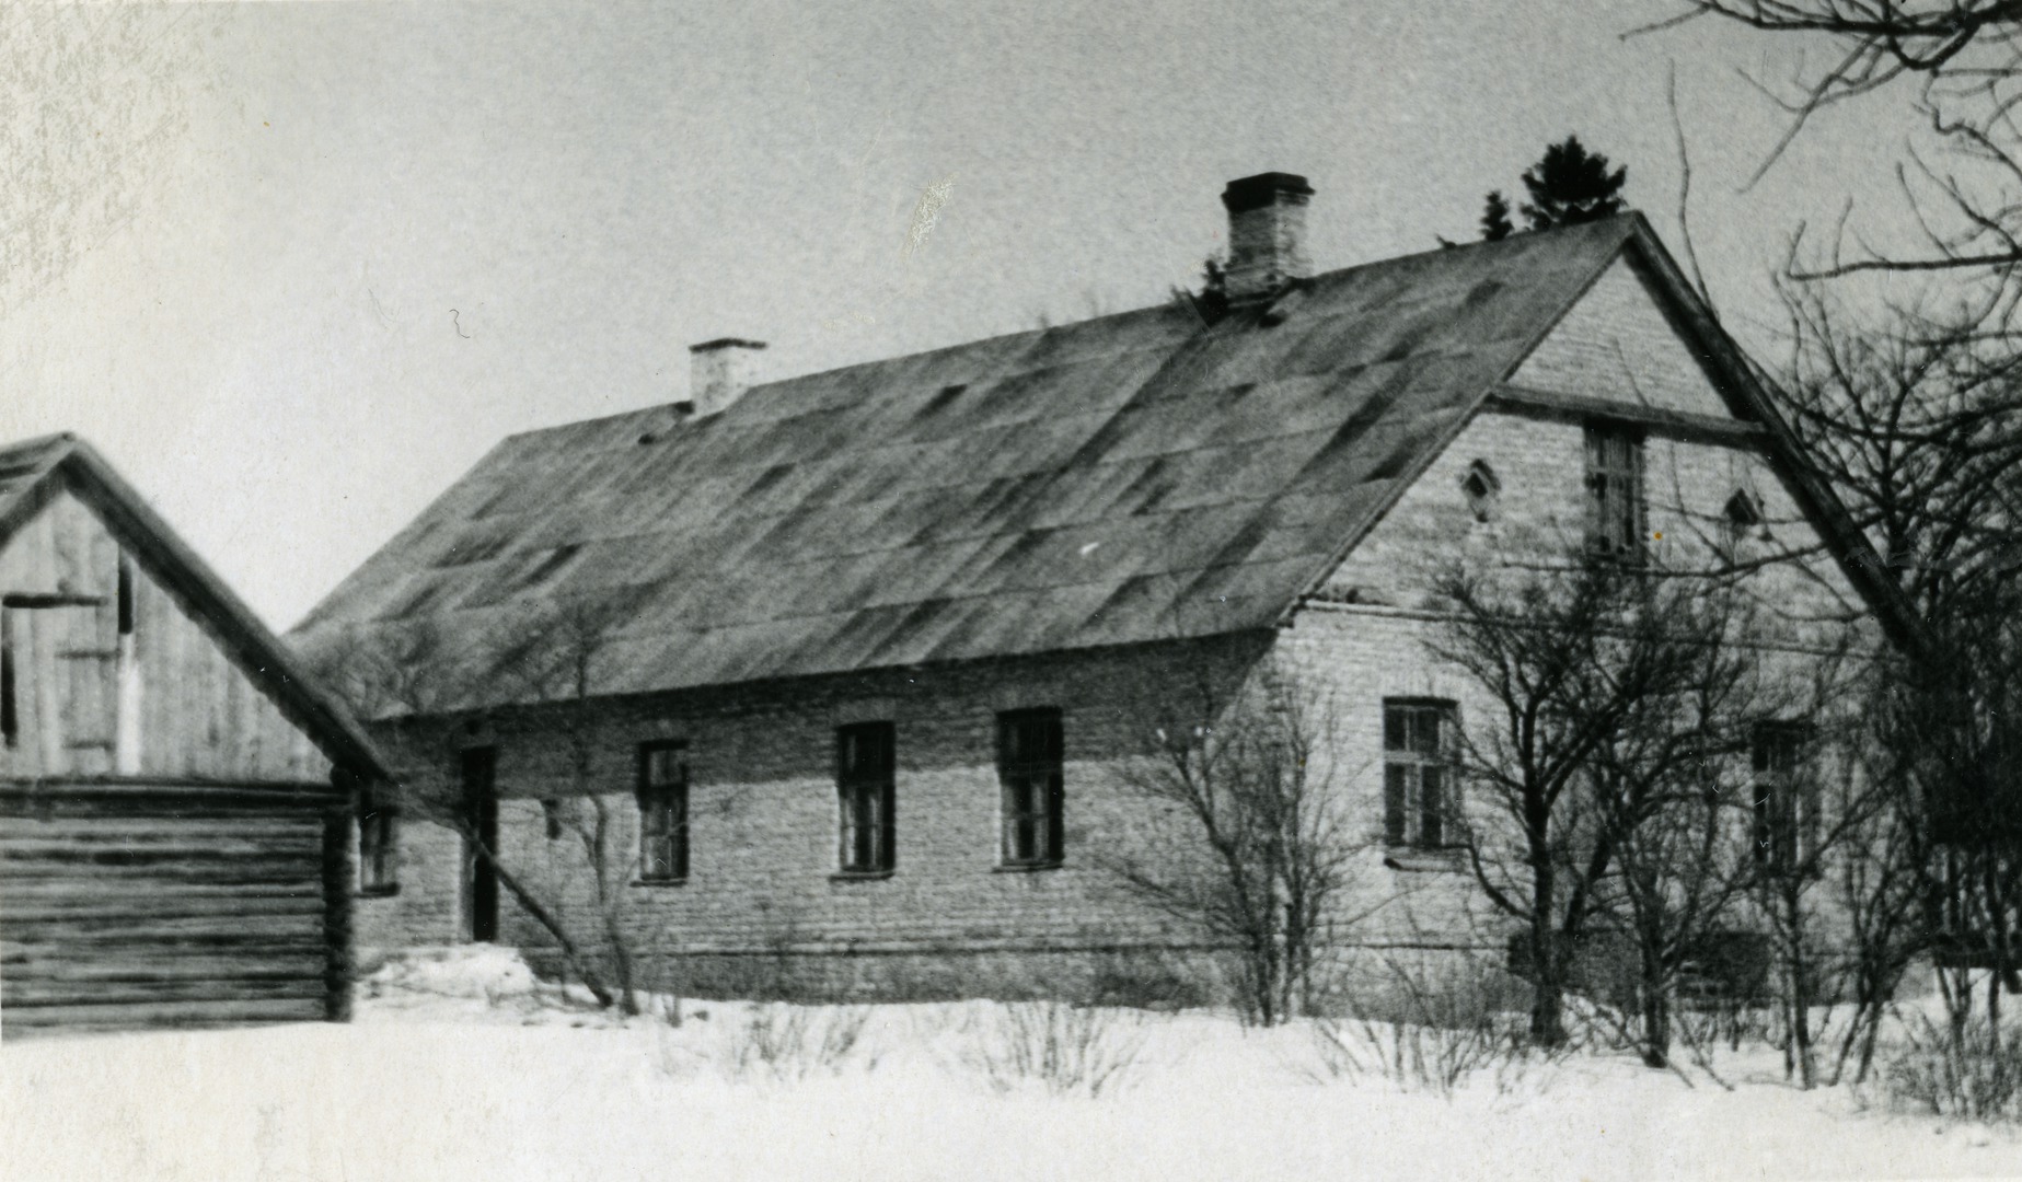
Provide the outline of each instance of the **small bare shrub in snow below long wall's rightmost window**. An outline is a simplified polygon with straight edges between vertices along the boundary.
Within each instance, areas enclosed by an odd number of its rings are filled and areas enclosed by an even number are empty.
[[[1098,1097],[1136,1067],[1144,1020],[1062,1000],[999,1002],[975,1010],[964,1037],[962,1063],[997,1091],[1039,1085],[1051,1095]]]

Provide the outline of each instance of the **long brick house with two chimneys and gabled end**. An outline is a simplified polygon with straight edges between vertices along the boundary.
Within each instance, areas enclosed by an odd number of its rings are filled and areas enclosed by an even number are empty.
[[[1644,546],[1810,554],[1751,576],[1800,643],[1870,568],[1640,216],[1312,275],[1310,196],[1229,184],[1225,307],[756,386],[762,346],[710,341],[690,402],[501,442],[295,634],[370,683],[402,776],[366,810],[360,940],[546,946],[518,887],[698,988],[1189,948],[1108,869],[1155,822],[1118,768],[1177,687],[1266,661],[1339,715],[1361,889],[1397,899],[1357,940],[1492,938],[1385,808],[1387,715],[1468,697],[1419,643],[1426,560],[1605,531],[1630,495]]]

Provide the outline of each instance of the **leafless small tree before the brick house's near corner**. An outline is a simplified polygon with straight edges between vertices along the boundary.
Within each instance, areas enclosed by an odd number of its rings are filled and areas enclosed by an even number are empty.
[[[1260,1024],[1312,1012],[1369,849],[1337,782],[1332,703],[1276,659],[1223,693],[1199,671],[1146,719],[1122,772],[1169,826],[1110,869],[1153,907],[1231,944]]]

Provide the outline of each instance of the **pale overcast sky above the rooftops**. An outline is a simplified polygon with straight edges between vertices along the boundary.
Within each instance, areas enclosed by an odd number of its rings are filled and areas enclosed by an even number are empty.
[[[1221,186],[1312,259],[1472,238],[1579,133],[1731,319],[1802,218],[1891,224],[1901,105],[1781,115],[1666,0],[14,8],[0,438],[77,430],[275,626],[505,434],[685,396],[685,346],[825,370],[1165,297]],[[906,251],[922,194],[932,232]],[[1876,220],[1878,218],[1878,220]],[[1749,339],[1761,346],[1761,339]]]

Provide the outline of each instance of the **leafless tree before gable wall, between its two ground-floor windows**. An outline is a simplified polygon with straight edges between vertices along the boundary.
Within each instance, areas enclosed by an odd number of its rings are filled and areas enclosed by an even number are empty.
[[[1488,901],[1523,925],[1531,1039],[1565,1041],[1573,958],[1607,917],[1644,948],[1644,1051],[1664,1063],[1666,998],[1729,895],[1694,857],[1719,778],[1759,707],[1761,661],[1733,590],[1575,552],[1531,570],[1450,566],[1428,651],[1488,709],[1462,721],[1456,810]]]

